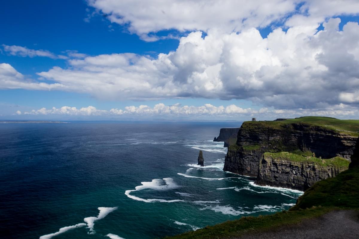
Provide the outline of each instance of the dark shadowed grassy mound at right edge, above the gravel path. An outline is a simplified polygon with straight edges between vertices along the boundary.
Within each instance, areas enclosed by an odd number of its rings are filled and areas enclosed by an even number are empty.
[[[319,205],[359,208],[359,167],[315,183],[291,210]]]

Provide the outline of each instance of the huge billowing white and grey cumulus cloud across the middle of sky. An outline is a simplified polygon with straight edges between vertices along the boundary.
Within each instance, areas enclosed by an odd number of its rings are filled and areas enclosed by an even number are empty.
[[[267,38],[192,32],[156,59],[133,53],[69,60],[39,76],[99,99],[246,99],[279,109],[325,109],[359,98],[359,25],[329,19],[324,30],[275,29]]]

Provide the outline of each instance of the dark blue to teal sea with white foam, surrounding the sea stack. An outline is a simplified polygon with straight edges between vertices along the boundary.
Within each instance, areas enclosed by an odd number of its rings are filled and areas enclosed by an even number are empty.
[[[300,192],[222,170],[212,139],[238,126],[0,124],[0,237],[161,238],[288,209]]]

